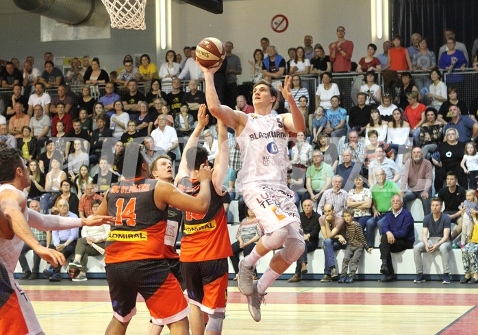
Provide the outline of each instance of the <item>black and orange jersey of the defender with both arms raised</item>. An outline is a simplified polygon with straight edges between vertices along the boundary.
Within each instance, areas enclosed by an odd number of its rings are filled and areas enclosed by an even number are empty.
[[[196,196],[199,193],[197,179],[181,178],[177,188]],[[232,256],[227,218],[223,207],[223,195],[218,195],[210,183],[211,203],[206,214],[183,211],[184,227],[181,238],[181,262],[218,260]]]

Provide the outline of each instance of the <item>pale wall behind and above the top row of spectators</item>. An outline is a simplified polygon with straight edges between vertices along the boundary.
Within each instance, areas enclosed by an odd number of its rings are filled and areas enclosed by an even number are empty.
[[[281,55],[289,47],[303,44],[303,36],[310,34],[314,43],[327,50],[336,40],[336,28],[347,29],[346,38],[355,44],[353,60],[358,62],[366,53],[366,46],[375,42],[381,52],[383,39],[372,40],[370,1],[375,0],[236,0],[224,2],[224,13],[210,14],[179,0],[171,0],[171,45],[182,53],[185,45],[196,45],[207,36],[234,42],[234,53],[242,60],[243,75],[240,82],[249,80],[249,63],[254,49],[260,47],[260,38],[266,36]],[[97,0],[97,3],[101,1]],[[388,1],[383,1],[384,3]],[[98,10],[105,10],[98,8]],[[278,34],[271,29],[271,19],[276,14],[288,17],[286,32]],[[149,53],[153,62],[164,60],[164,51],[155,60],[155,1],[147,5],[147,30],[112,29],[110,39],[40,42],[40,16],[24,12],[13,0],[3,0],[0,11],[0,58],[25,60],[33,55],[36,66],[42,67],[43,53],[52,51],[55,56],[90,55],[99,57],[101,66],[109,71],[121,65],[126,53]],[[384,29],[388,30],[387,27]]]

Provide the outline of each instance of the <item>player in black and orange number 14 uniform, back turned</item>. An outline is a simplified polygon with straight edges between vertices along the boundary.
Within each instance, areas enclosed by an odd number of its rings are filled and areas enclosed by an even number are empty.
[[[168,325],[170,334],[189,334],[188,304],[164,259],[167,209],[171,204],[205,213],[210,190],[203,189],[197,197],[191,197],[167,182],[147,179],[149,166],[137,143],[123,149],[115,165],[125,180],[112,185],[97,211],[116,217],[105,244],[105,269],[114,310],[105,334],[126,333],[136,314],[138,293],[146,302],[153,324]],[[212,171],[209,166],[201,166],[198,178],[204,188],[210,184]]]

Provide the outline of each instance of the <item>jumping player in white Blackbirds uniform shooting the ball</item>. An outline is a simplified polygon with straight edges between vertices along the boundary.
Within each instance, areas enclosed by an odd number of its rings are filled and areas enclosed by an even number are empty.
[[[261,80],[254,85],[255,112],[244,114],[221,105],[214,87],[214,73],[218,67],[207,69],[201,66],[201,70],[207,108],[236,131],[241,151],[244,201],[264,227],[264,236],[251,254],[240,262],[238,274],[238,288],[247,296],[249,312],[255,321],[260,321],[260,305],[266,288],[301,256],[305,247],[294,195],[287,187],[288,133],[305,132],[305,120],[290,92],[292,80],[288,76],[284,88],[279,85],[279,89],[289,102],[291,113],[273,116],[271,110],[277,91],[271,84]],[[282,245],[284,249],[275,253],[260,280],[253,281],[257,261]]]

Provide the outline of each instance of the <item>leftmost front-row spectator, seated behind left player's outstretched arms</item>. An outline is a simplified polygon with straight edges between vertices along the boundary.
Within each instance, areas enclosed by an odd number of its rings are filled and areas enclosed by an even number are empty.
[[[38,200],[32,200],[30,201],[29,208],[36,212],[40,212],[40,203]],[[47,247],[51,244],[51,232],[41,232],[38,229],[32,228],[32,233],[43,247]],[[20,262],[23,272],[23,275],[20,277],[21,280],[37,280],[38,274],[40,273],[40,261],[42,259],[35,251],[33,251],[33,267],[32,271],[30,271],[27,258],[25,257],[25,253],[30,250],[32,250],[32,248],[25,243],[20,253],[20,257],[18,258],[18,262]]]

